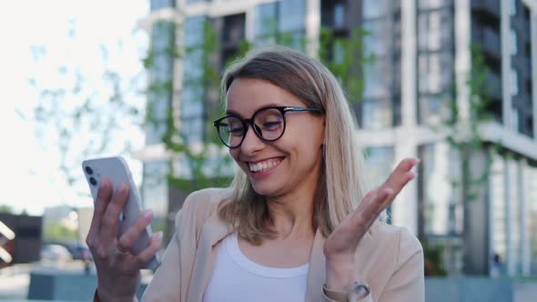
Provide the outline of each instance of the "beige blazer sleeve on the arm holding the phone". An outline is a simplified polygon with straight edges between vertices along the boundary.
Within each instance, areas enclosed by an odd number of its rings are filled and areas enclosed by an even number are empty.
[[[176,217],[176,234],[170,240],[160,267],[157,268],[151,283],[144,292],[142,302],[156,302],[156,301],[180,301],[180,247],[181,240],[177,234],[181,226],[183,213],[187,210],[185,207],[179,210]]]

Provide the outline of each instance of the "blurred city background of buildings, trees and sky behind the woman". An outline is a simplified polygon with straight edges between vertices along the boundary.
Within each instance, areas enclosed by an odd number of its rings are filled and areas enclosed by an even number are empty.
[[[428,301],[536,297],[536,0],[3,6],[0,300],[91,299],[86,158],[127,159],[166,246],[187,194],[234,173],[211,123],[220,76],[272,44],[339,78],[371,187],[421,158],[388,212],[420,238]]]

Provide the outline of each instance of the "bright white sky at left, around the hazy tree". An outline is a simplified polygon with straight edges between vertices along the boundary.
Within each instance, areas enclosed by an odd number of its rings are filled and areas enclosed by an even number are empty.
[[[91,206],[89,189],[87,196],[81,196],[59,172],[57,134],[35,122],[39,93],[30,79],[35,78],[40,88],[69,86],[58,76],[58,68],[76,66],[88,79],[88,89],[99,92],[106,89],[102,77],[106,68],[126,79],[137,75],[147,48],[147,35],[137,22],[148,14],[148,1],[5,3],[0,9],[0,205],[30,215],[41,215],[47,206]],[[133,97],[137,106],[143,106],[143,96]],[[76,147],[84,147],[85,137],[84,133],[78,137]],[[126,140],[134,149],[143,146],[139,126],[126,125],[114,139]],[[112,145],[107,154],[98,156],[117,155],[114,152],[120,149]],[[141,163],[123,156],[139,184]]]

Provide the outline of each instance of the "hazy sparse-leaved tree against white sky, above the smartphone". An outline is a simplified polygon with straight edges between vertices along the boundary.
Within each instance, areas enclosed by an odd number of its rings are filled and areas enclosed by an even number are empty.
[[[120,74],[115,61],[122,41],[89,49],[87,61],[95,63],[88,65],[78,57],[80,45],[76,26],[72,26],[68,42],[62,45],[66,56],[60,60],[52,55],[57,50],[43,45],[32,47],[36,70],[29,84],[38,100],[31,118],[36,138],[47,151],[58,155],[58,168],[65,176],[62,181],[78,195],[89,196],[80,164],[88,157],[132,150],[132,138],[124,134],[143,125],[145,112],[137,100],[144,77]]]

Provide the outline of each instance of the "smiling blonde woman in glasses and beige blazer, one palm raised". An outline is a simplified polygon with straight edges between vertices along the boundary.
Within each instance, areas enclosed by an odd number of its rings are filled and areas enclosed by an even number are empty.
[[[225,74],[214,122],[238,165],[231,189],[187,197],[144,301],[423,301],[423,254],[381,213],[416,175],[415,158],[364,195],[355,119],[338,81],[286,48],[252,53]],[[87,244],[96,299],[132,301],[161,245],[126,252],[151,219],[116,239],[127,190],[104,183]]]

